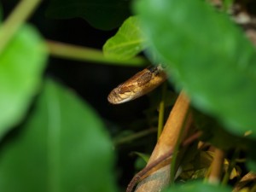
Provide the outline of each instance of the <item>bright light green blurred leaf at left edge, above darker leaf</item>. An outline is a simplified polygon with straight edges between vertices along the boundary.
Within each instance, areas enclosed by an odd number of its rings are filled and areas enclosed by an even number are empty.
[[[0,139],[26,114],[46,58],[43,40],[32,26],[22,26],[0,55]]]

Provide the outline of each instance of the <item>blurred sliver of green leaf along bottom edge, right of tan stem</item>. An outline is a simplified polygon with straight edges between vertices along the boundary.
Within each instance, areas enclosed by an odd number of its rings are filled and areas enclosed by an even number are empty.
[[[168,189],[164,190],[164,192],[230,192],[232,191],[230,188],[225,186],[212,185],[209,183],[201,183],[201,182],[190,182],[185,183],[183,185],[172,185]]]

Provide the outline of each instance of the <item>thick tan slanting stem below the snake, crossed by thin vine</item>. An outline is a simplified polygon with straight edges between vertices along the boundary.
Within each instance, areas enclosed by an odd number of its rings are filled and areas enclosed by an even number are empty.
[[[148,160],[148,165],[154,164],[155,160],[158,160],[161,156],[164,156],[171,149],[175,148],[177,138],[180,135],[180,131],[184,126],[184,122],[189,113],[189,99],[181,93],[177,97],[177,101],[172,108],[172,112],[166,121],[166,125],[162,134],[156,144],[153,153]],[[189,126],[191,119],[186,121],[185,126]],[[187,128],[184,130],[188,130]],[[185,134],[183,133],[183,137]],[[147,165],[147,166],[148,166]],[[146,166],[146,167],[147,167]],[[163,161],[158,166],[155,166],[145,177],[141,183],[138,184],[136,192],[154,192],[160,191],[166,187],[170,180],[170,161]]]

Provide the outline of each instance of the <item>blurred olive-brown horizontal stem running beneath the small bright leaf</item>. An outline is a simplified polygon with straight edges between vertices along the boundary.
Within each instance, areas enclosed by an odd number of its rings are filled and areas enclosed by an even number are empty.
[[[92,61],[102,64],[143,66],[148,63],[143,57],[134,57],[130,60],[117,60],[103,55],[102,50],[85,48],[73,44],[63,44],[55,41],[47,41],[50,55],[73,59],[78,61]]]

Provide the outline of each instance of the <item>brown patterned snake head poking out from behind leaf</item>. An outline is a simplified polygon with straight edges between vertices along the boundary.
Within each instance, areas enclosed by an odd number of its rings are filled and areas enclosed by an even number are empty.
[[[166,79],[167,75],[161,65],[149,66],[114,88],[108,95],[108,102],[112,104],[130,102],[148,94]]]

